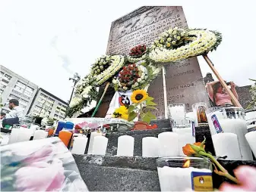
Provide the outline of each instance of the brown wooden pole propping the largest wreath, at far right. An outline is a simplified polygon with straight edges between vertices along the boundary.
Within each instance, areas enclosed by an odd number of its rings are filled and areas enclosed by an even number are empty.
[[[223,85],[223,88],[225,88],[226,92],[229,94],[229,97],[231,98],[232,103],[235,105],[235,107],[242,107],[239,101],[235,98],[235,95],[232,93],[232,91],[230,91],[228,85],[226,85],[226,82],[224,82],[220,74],[216,71],[215,67],[213,66],[213,62],[211,62],[207,54],[204,54],[203,57],[204,60],[208,63],[210,69],[213,70],[216,78],[219,79],[221,85]]]

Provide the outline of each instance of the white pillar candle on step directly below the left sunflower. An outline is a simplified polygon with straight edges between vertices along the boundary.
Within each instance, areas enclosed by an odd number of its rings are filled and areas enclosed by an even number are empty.
[[[122,135],[118,139],[117,156],[134,156],[134,138]]]

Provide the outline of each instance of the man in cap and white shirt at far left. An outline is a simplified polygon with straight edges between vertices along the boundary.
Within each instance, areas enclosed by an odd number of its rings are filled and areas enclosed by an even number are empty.
[[[11,112],[7,113],[5,117],[1,116],[3,126],[19,124],[24,117],[24,111],[19,107],[19,101],[17,99],[11,99],[9,101],[9,108]]]

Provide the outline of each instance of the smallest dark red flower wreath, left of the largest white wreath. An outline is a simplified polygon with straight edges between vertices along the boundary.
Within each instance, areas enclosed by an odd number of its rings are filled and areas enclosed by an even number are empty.
[[[131,51],[128,56],[128,61],[131,63],[136,63],[140,60],[144,60],[147,57],[147,47],[146,45],[137,45],[134,48],[131,48]]]

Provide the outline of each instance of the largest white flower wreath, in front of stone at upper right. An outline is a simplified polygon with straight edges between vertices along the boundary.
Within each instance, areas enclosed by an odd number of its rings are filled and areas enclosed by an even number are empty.
[[[153,42],[149,57],[156,62],[174,62],[207,54],[216,49],[222,37],[205,29],[169,29]]]

